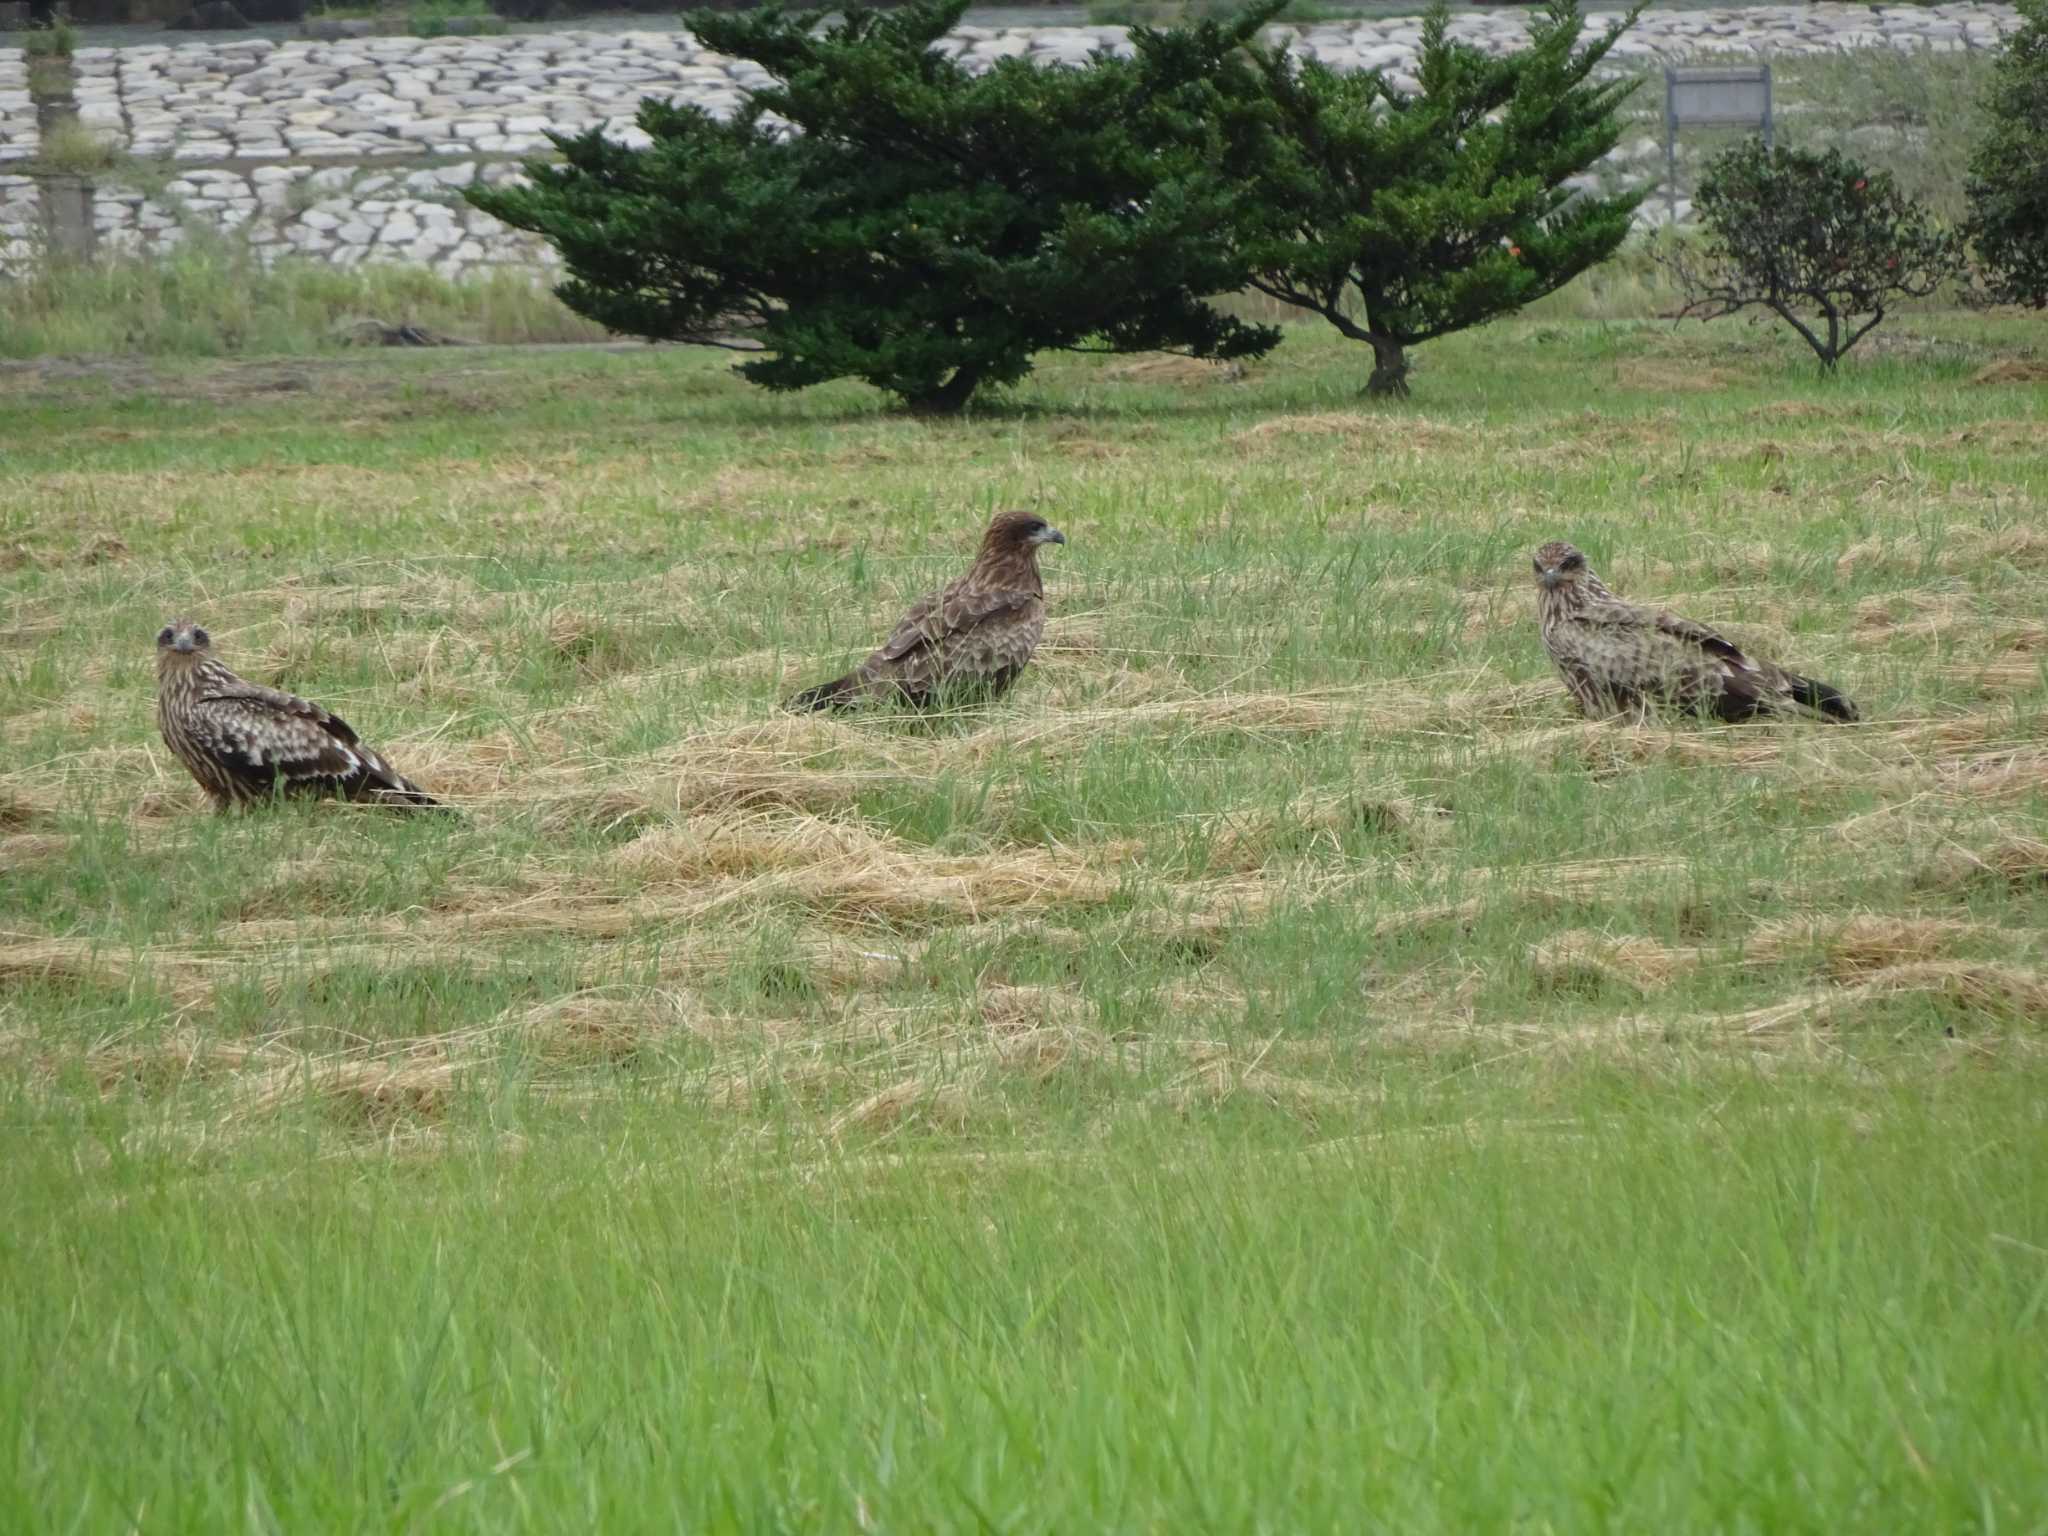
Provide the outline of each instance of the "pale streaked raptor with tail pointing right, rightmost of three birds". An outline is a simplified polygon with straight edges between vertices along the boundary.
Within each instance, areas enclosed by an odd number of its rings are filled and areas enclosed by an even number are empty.
[[[1720,721],[1812,711],[1853,721],[1837,688],[1747,655],[1706,625],[1622,602],[1567,543],[1536,551],[1542,643],[1587,715],[1679,709]]]

